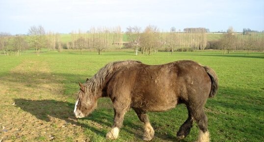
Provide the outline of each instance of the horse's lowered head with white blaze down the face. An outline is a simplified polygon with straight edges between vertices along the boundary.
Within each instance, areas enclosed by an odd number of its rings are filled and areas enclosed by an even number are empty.
[[[90,114],[97,106],[97,98],[93,94],[87,94],[87,88],[79,83],[80,90],[74,108],[74,114],[77,118],[82,118]]]

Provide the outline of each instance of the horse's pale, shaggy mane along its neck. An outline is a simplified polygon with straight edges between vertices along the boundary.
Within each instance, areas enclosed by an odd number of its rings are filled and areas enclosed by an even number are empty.
[[[112,75],[115,71],[120,69],[120,67],[127,66],[134,63],[141,63],[135,60],[125,60],[125,61],[115,61],[106,64],[101,68],[91,79],[89,79],[84,86],[86,87],[84,97],[89,97],[90,95],[96,95],[99,88],[103,87],[106,78]]]

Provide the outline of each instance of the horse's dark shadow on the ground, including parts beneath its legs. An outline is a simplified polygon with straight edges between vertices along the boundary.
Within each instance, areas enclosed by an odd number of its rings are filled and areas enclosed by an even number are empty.
[[[14,99],[14,101],[15,101],[16,107],[19,107],[22,110],[34,115],[36,118],[40,120],[50,122],[52,121],[51,117],[59,118],[61,120],[65,120],[67,123],[75,124],[75,125],[84,127],[86,129],[89,129],[93,131],[94,133],[96,133],[97,135],[100,135],[101,137],[106,136],[107,132],[105,130],[102,130],[101,128],[98,128],[97,125],[80,123],[73,114],[73,108],[75,106],[75,104],[73,103],[56,101],[56,100],[27,100],[27,99]],[[105,111],[98,109],[98,110],[95,110],[88,117],[81,118],[81,119],[88,119],[88,120],[91,120],[93,122],[100,124],[101,126],[110,128],[112,125],[112,121],[113,121],[113,113],[106,113]],[[132,120],[126,120],[125,118],[124,125],[128,127],[122,127],[121,128],[122,131],[126,131],[134,135],[139,140],[142,139],[142,135],[143,135],[142,125],[143,124],[138,125],[137,123],[132,122]],[[137,130],[142,131],[142,132],[138,132]],[[159,133],[155,133],[155,137],[158,137],[166,141],[178,142],[176,141],[176,137],[168,138]],[[181,142],[186,142],[186,141],[182,140]]]

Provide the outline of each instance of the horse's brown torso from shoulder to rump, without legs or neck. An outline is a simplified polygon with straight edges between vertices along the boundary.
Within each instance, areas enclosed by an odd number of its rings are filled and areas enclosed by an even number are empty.
[[[202,66],[182,60],[162,65],[124,66],[109,84],[112,98],[130,102],[131,107],[145,111],[165,111],[174,108],[179,100],[188,101],[196,97],[190,95],[206,89],[201,86],[204,79],[207,81]]]

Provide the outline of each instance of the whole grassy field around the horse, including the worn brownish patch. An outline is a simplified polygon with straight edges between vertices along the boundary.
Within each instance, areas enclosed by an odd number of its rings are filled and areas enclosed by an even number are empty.
[[[262,142],[264,140],[264,53],[159,52],[134,56],[133,52],[45,52],[36,57],[0,56],[0,141],[3,142],[112,142],[105,139],[113,122],[112,104],[99,100],[89,116],[73,114],[78,82],[85,82],[106,63],[135,59],[162,64],[191,59],[215,70],[219,91],[208,99],[205,112],[211,142]],[[176,142],[176,133],[187,118],[185,105],[163,113],[148,113],[155,130],[152,142]],[[125,115],[118,140],[141,142],[143,124],[131,110]],[[194,124],[181,142],[197,139]]]

